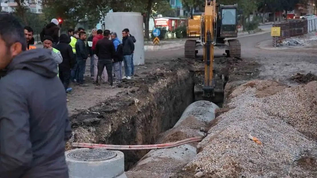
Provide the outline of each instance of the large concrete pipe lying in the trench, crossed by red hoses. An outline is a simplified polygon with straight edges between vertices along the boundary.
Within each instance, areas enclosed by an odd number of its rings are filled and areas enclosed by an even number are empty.
[[[167,137],[179,134],[186,137],[204,135],[200,127],[208,126],[215,119],[216,104],[209,101],[196,101],[189,105],[175,126],[166,131]],[[167,138],[166,137],[166,138]],[[165,142],[170,139],[161,139]],[[151,150],[133,169],[126,172],[128,178],[166,178],[175,173],[196,156],[195,144],[184,144],[174,148]]]

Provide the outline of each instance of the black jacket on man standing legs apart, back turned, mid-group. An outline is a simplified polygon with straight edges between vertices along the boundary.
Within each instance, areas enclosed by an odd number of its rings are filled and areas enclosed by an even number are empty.
[[[111,60],[116,55],[116,50],[114,48],[113,42],[108,38],[98,40],[95,52],[98,56],[98,60]]]

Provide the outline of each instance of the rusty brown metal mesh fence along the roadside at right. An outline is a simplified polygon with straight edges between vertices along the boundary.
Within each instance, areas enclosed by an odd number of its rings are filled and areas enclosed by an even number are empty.
[[[307,34],[308,32],[311,32],[313,30],[316,30],[317,28],[313,23],[317,24],[317,18],[310,20],[288,20],[283,21],[279,23],[274,23],[273,27],[281,27],[281,35],[280,36],[274,36],[273,37],[273,46],[276,47],[278,43],[281,43],[282,40],[290,37],[295,36],[302,36],[304,34]],[[311,28],[308,28],[310,25]]]

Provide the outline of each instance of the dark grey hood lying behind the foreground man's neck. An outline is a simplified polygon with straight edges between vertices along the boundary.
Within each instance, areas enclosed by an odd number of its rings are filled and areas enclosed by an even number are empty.
[[[17,55],[8,65],[8,72],[14,70],[29,70],[43,77],[53,78],[57,76],[56,62],[48,49],[33,49]]]

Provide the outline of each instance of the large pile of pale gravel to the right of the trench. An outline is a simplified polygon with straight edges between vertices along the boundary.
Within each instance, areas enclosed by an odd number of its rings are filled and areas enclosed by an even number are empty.
[[[263,81],[253,83],[256,86]],[[218,124],[198,144],[202,151],[186,165],[186,172],[195,171],[199,173],[196,177],[212,178],[317,177],[317,145],[297,131],[306,129],[307,118],[303,116],[305,112],[311,113],[306,106],[313,94],[304,100],[305,92],[316,90],[317,84],[309,83],[305,86],[307,90],[301,90],[305,87],[284,89],[267,98],[257,98],[254,85],[245,86],[233,91],[236,97],[228,104],[233,109],[218,117]],[[302,115],[297,117],[298,114]],[[292,127],[284,120],[299,122],[294,122]],[[262,144],[251,140],[249,135]]]

